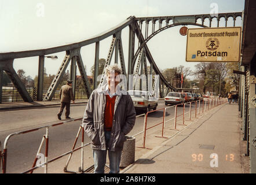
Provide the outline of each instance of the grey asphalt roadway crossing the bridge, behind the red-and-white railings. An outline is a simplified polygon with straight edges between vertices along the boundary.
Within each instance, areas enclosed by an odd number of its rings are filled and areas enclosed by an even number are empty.
[[[71,104],[71,118],[82,117],[85,111],[85,104]],[[166,108],[170,106],[165,106],[163,101],[158,102],[158,109]],[[192,105],[195,108],[195,105]],[[0,112],[0,140],[2,142],[5,141],[6,136],[12,134],[14,132],[25,131],[27,129],[32,129],[36,127],[40,127],[43,125],[49,125],[53,123],[59,123],[57,120],[57,112],[59,106],[46,106],[44,108],[35,108],[35,109],[27,109],[27,110],[10,110],[6,112]],[[189,112],[189,105],[185,106],[185,112]],[[137,115],[142,114],[143,112],[137,112]],[[178,106],[177,115],[181,115],[183,113],[183,107]],[[64,113],[63,116],[64,117]],[[174,117],[174,108],[166,109],[166,121],[173,121]],[[182,119],[182,116],[179,117]],[[65,121],[65,120],[64,120]],[[152,127],[158,123],[163,121],[163,109],[158,110],[157,112],[152,112],[148,114],[147,128]],[[50,127],[49,129],[49,159],[60,156],[67,151],[70,151],[72,145],[74,144],[75,136],[78,133],[79,125],[81,125],[82,121],[70,121],[65,124],[57,125],[55,127]],[[159,129],[162,125],[158,126]],[[144,115],[138,116],[136,119],[136,124],[133,130],[129,133],[129,135],[135,135],[144,128]],[[20,173],[27,169],[29,169],[33,161],[36,157],[36,152],[38,151],[38,147],[41,143],[43,135],[46,134],[46,128],[39,129],[33,132],[28,132],[25,134],[14,135],[8,140],[8,158],[7,158],[7,173]],[[150,134],[150,132],[148,132]],[[141,138],[141,136],[140,136]],[[136,138],[140,140],[140,138]],[[85,142],[89,143],[89,138],[85,134]],[[78,139],[78,143],[76,147],[81,146],[81,134]],[[80,150],[79,150],[80,151]],[[73,167],[73,171],[78,171],[76,166],[79,164],[75,164],[76,161],[79,161],[80,152],[76,151],[73,154],[73,158],[75,160],[70,162],[71,168]],[[41,152],[45,153],[45,146],[42,147]],[[93,164],[92,151],[88,147],[85,147],[84,151],[85,166],[90,166]],[[67,161],[67,157],[63,157],[56,162],[52,162],[49,164],[49,172],[50,173],[61,173],[63,172],[64,164]],[[77,163],[77,162],[76,162]],[[36,169],[35,173],[43,172],[43,168]]]

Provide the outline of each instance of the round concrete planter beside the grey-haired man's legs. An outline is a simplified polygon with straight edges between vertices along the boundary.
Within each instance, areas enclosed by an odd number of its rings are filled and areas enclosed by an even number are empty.
[[[125,168],[135,161],[135,138],[126,136],[126,141],[123,143],[123,151],[121,155],[120,168]]]

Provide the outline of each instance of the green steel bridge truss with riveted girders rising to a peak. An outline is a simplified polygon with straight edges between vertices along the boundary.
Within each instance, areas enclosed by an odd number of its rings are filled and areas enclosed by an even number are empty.
[[[169,90],[177,91],[176,88],[172,87],[169,82],[164,78],[162,73],[160,72],[158,66],[156,65],[155,60],[149,48],[147,46],[147,42],[153,38],[153,36],[159,34],[167,28],[175,27],[177,25],[197,25],[199,27],[211,27],[214,19],[217,20],[217,27],[219,27],[220,19],[225,19],[225,27],[227,27],[228,18],[233,18],[233,26],[235,27],[235,21],[237,17],[242,18],[242,12],[233,12],[233,13],[219,13],[217,16],[212,16],[211,14],[195,14],[188,16],[164,16],[164,17],[134,17],[130,16],[125,21],[116,25],[116,27],[111,28],[100,35],[93,36],[92,38],[83,40],[82,42],[72,43],[70,45],[52,47],[48,49],[40,49],[40,50],[30,50],[30,51],[19,51],[19,52],[10,52],[10,53],[0,53],[0,103],[2,97],[2,76],[3,71],[5,71],[14,86],[17,88],[17,91],[20,93],[21,97],[25,102],[32,102],[32,98],[28,94],[25,85],[21,82],[21,79],[17,75],[16,71],[13,68],[13,61],[16,58],[24,58],[24,57],[39,57],[39,67],[38,67],[38,101],[42,101],[43,99],[46,101],[52,100],[54,92],[57,89],[58,84],[61,82],[65,70],[67,69],[68,64],[71,61],[71,73],[70,80],[76,79],[76,64],[79,68],[79,72],[81,73],[82,81],[86,89],[87,97],[89,98],[91,94],[90,83],[87,79],[85,67],[83,64],[83,60],[81,57],[81,47],[87,45],[95,44],[95,60],[94,60],[94,84],[93,89],[97,87],[97,76],[98,74],[98,61],[99,61],[99,53],[100,53],[100,42],[105,38],[112,36],[111,45],[107,54],[107,60],[105,66],[109,65],[112,60],[112,56],[115,50],[115,63],[120,61],[120,66],[122,68],[123,75],[135,75],[138,76],[139,70],[141,74],[145,73],[148,76],[147,70],[147,61],[150,64],[150,74],[152,74],[152,70],[155,71],[156,77],[154,80],[154,84],[147,83],[147,86],[153,85],[153,90],[159,86],[160,97],[166,95]],[[204,23],[206,19],[209,20],[209,26],[206,26]],[[201,23],[197,23],[198,20],[201,20]],[[143,24],[145,22],[145,24]],[[165,25],[164,25],[165,23]],[[152,30],[149,31],[149,24],[151,24]],[[157,25],[158,24],[158,27]],[[123,55],[123,45],[122,45],[122,30],[126,27],[129,27],[129,50],[128,50],[128,58]],[[142,33],[142,30],[145,30]],[[150,34],[150,35],[149,35]],[[138,42],[138,46],[135,46],[136,40]],[[137,48],[137,50],[136,50]],[[60,65],[60,68],[57,71],[56,76],[54,77],[52,83],[50,84],[49,89],[47,90],[47,94],[43,97],[43,69],[44,69],[44,58],[46,55],[58,53],[61,51],[65,51],[65,57],[63,62]],[[119,58],[119,60],[118,60]],[[138,59],[138,60],[137,60]],[[128,69],[125,68],[125,61],[128,63]],[[103,74],[104,75],[104,74]],[[157,77],[159,75],[160,83],[158,82]],[[103,77],[100,80],[100,85],[103,84]],[[128,79],[130,81],[136,81],[135,79]],[[129,87],[130,89],[130,87]],[[152,88],[151,88],[152,89]]]

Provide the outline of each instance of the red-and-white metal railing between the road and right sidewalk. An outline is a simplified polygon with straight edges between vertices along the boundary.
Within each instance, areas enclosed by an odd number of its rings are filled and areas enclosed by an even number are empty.
[[[215,106],[218,106],[218,105],[222,105],[223,103],[226,103],[228,102],[228,100],[226,98],[213,98],[213,99],[210,99],[210,98],[204,98],[203,101],[202,101],[202,113],[206,112],[206,110],[210,110],[210,109],[213,109]],[[192,103],[195,103],[195,110],[192,110]],[[179,105],[182,105],[183,106],[183,111],[182,111],[182,114],[180,115],[177,115],[177,106],[178,105],[174,105],[174,106],[170,106],[170,107],[167,107],[167,108],[162,108],[162,109],[157,109],[157,110],[152,110],[152,111],[149,111],[147,112],[147,114],[141,114],[141,115],[138,115],[136,117],[140,117],[140,116],[144,116],[144,130],[139,132],[138,134],[142,134],[143,133],[143,139],[142,139],[142,148],[144,149],[148,149],[147,147],[145,147],[145,142],[146,142],[146,138],[147,138],[147,130],[148,129],[151,129],[153,127],[156,127],[160,124],[162,124],[162,135],[161,136],[158,136],[159,138],[166,138],[164,137],[164,127],[165,127],[165,124],[168,122],[168,121],[171,121],[171,120],[174,120],[174,129],[178,131],[177,129],[177,117],[179,116],[182,116],[182,125],[185,125],[185,114],[189,113],[189,120],[191,120],[191,116],[192,116],[192,111],[195,111],[195,118],[200,115],[200,110],[201,110],[201,103],[200,101],[194,101],[194,102],[189,102],[189,112],[185,112],[185,105],[187,105],[188,103],[183,103],[183,104],[179,104]],[[171,118],[170,120],[166,120],[166,110],[167,109],[170,109],[170,108],[174,108],[174,117]],[[147,127],[147,124],[148,124],[148,114],[149,113],[152,113],[152,112],[156,112],[156,111],[159,111],[159,110],[163,110],[163,121],[158,123],[158,124],[155,124],[151,127]],[[86,143],[84,144],[84,129],[83,129],[83,126],[80,125],[79,127],[79,131],[78,131],[78,134],[76,135],[76,138],[75,138],[75,142],[74,142],[74,145],[72,146],[72,149],[70,151],[67,151],[66,153],[64,154],[61,154],[60,156],[58,157],[55,157],[53,158],[52,160],[49,160],[48,159],[48,153],[49,153],[49,129],[50,127],[55,127],[57,125],[61,125],[61,124],[65,124],[65,123],[70,123],[72,121],[77,121],[77,120],[82,120],[83,117],[79,117],[78,119],[72,119],[72,120],[67,120],[67,121],[63,121],[63,122],[60,122],[60,123],[55,123],[55,124],[50,124],[50,125],[45,125],[45,126],[42,126],[42,127],[36,127],[36,128],[33,128],[33,129],[29,129],[29,130],[25,130],[25,131],[20,131],[20,132],[15,132],[13,134],[10,134],[8,135],[6,138],[5,138],[5,142],[4,142],[4,145],[3,145],[3,152],[2,152],[2,148],[1,148],[1,142],[0,142],[0,169],[1,169],[1,163],[2,163],[2,173],[6,173],[6,164],[7,164],[7,157],[8,157],[8,141],[10,138],[12,138],[12,136],[14,135],[20,135],[20,134],[26,134],[28,132],[33,132],[33,131],[37,131],[39,129],[43,129],[43,128],[46,128],[46,134],[43,135],[43,138],[42,138],[42,142],[39,146],[39,149],[36,153],[36,158],[34,160],[34,163],[32,165],[32,168],[31,169],[28,169],[27,171],[23,172],[23,173],[32,173],[34,171],[34,169],[36,168],[39,168],[41,167],[42,165],[44,165],[45,167],[45,173],[47,173],[47,166],[50,162],[53,162],[55,160],[58,160],[59,158],[61,157],[64,157],[64,156],[67,156],[68,154],[70,154],[70,157],[68,158],[68,161],[66,163],[66,165],[64,166],[64,172],[71,172],[71,173],[76,173],[76,172],[72,172],[72,171],[68,171],[67,170],[67,166],[70,162],[70,159],[72,157],[72,153],[76,150],[79,150],[81,149],[81,168],[80,168],[80,172],[83,172],[83,147],[89,145],[89,143]],[[75,149],[75,145],[76,145],[76,142],[78,141],[78,137],[79,137],[79,134],[81,133],[82,131],[82,142],[81,142],[81,146],[77,147]],[[136,135],[138,135],[136,134]],[[134,135],[134,136],[136,136]],[[42,164],[38,165],[38,166],[35,166],[36,165],[36,161],[38,160],[38,154],[41,152],[41,149],[42,149],[42,146],[43,146],[43,143],[45,143],[45,162],[43,162]]]

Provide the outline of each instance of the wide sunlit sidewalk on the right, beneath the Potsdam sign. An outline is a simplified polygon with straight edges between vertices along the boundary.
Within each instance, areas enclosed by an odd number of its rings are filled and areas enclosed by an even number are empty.
[[[218,106],[121,173],[250,173],[238,115],[237,105]]]

